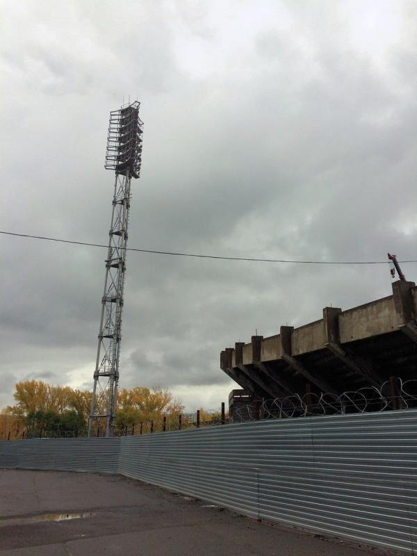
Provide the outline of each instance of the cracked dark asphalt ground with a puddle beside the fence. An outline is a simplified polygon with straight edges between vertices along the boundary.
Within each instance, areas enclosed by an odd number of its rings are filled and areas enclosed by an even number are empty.
[[[1,556],[366,556],[118,475],[0,470]]]

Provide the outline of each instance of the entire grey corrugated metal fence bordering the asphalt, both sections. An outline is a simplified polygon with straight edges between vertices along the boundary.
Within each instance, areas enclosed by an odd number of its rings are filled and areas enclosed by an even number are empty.
[[[250,516],[386,549],[417,550],[415,410],[261,420],[122,439],[3,442],[0,466],[118,471]]]

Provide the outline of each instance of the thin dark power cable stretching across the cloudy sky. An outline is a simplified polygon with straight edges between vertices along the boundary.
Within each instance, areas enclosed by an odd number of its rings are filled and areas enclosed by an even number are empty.
[[[16,234],[13,231],[2,231],[0,234],[5,236],[17,236],[19,238],[32,238],[32,239],[42,239],[46,241],[56,241],[58,243],[72,243],[74,245],[87,245],[88,247],[104,247],[108,248],[108,245],[101,243],[89,243],[87,241],[74,241],[68,239],[59,238],[49,238],[47,236],[34,236],[32,234]],[[295,263],[304,265],[385,265],[389,264],[389,261],[293,261],[289,259],[255,259],[251,257],[243,256],[220,256],[220,255],[200,255],[197,253],[177,253],[173,251],[155,251],[150,249],[138,249],[137,247],[126,247],[126,251],[136,251],[139,253],[152,253],[156,255],[172,255],[172,256],[188,256],[195,257],[197,259],[220,259],[223,261],[251,261],[257,263]],[[410,261],[398,261],[399,263],[417,263],[416,260]]]

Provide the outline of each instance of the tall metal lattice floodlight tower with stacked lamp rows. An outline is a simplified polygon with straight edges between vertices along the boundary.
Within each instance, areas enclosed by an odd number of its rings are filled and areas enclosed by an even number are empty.
[[[142,155],[143,123],[139,118],[139,106],[140,103],[136,101],[111,112],[108,125],[104,167],[115,171],[115,188],[88,436],[93,434],[95,419],[106,418],[106,436],[111,436],[114,427],[131,178],[139,177]]]

